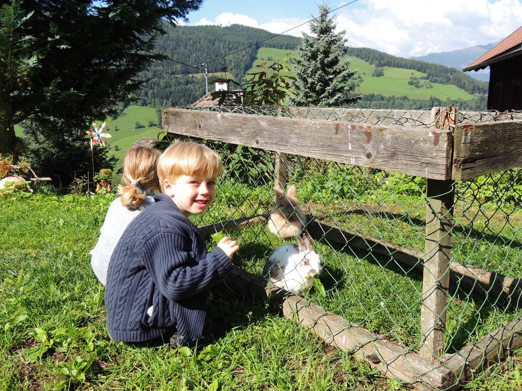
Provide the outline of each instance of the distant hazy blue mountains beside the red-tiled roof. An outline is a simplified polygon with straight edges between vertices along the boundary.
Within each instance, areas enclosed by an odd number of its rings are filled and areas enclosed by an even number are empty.
[[[479,58],[485,52],[495,46],[497,42],[488,43],[487,45],[477,45],[457,49],[451,52],[430,53],[425,56],[411,57],[416,60],[426,61],[428,63],[446,65],[448,67],[462,70]],[[489,67],[479,71],[466,72],[467,75],[477,80],[489,81]]]

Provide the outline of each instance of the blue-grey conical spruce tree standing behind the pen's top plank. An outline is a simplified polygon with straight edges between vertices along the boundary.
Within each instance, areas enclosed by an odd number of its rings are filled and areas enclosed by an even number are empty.
[[[334,19],[328,17],[327,5],[319,5],[319,17],[310,22],[315,36],[303,33],[298,57],[293,60],[297,77],[289,104],[294,106],[346,106],[359,99],[351,96],[355,85],[350,79],[357,71],[350,70],[346,58],[345,31],[335,33]]]

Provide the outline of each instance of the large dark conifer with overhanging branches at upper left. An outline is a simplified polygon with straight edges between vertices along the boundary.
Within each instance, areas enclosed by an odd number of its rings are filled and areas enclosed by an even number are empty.
[[[0,153],[14,125],[31,120],[52,135],[115,113],[169,56],[156,50],[165,23],[203,0],[7,0],[0,2]],[[46,126],[65,124],[66,129]]]

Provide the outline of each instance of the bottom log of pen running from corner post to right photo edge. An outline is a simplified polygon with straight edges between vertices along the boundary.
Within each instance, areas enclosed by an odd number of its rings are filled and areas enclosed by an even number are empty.
[[[460,384],[469,382],[474,372],[488,368],[491,363],[505,358],[513,350],[522,347],[522,316],[469,344],[444,359],[442,365],[453,371]]]

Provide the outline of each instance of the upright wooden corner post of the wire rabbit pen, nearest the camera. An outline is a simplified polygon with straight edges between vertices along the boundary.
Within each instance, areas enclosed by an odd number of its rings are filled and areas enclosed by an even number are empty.
[[[431,115],[437,129],[454,130],[458,109],[434,107]],[[427,197],[421,307],[423,341],[419,355],[438,360],[444,350],[446,332],[454,181],[428,179]]]

